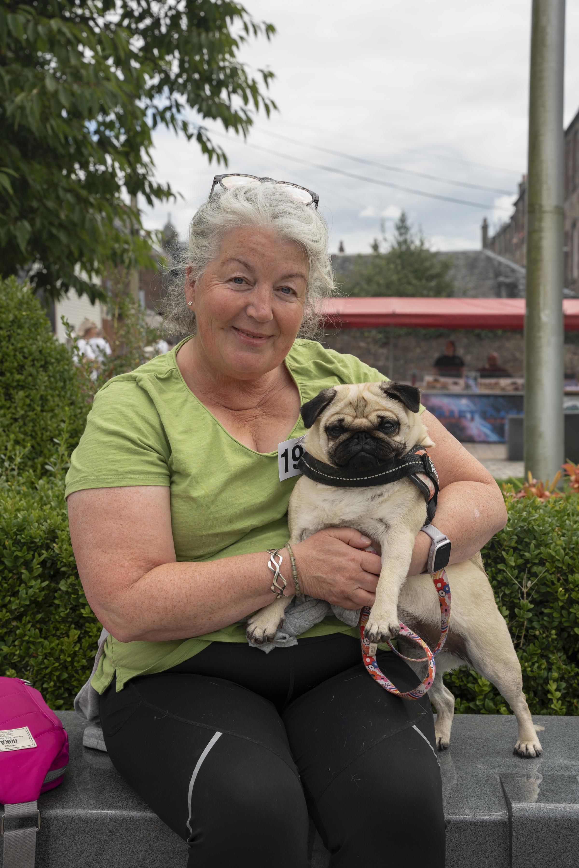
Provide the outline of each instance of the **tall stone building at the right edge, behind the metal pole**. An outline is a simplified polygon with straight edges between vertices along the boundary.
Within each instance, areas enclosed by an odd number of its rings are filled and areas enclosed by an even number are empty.
[[[579,295],[579,112],[564,133],[564,286],[566,294]],[[483,220],[483,249],[518,266],[527,258],[527,176],[519,183],[514,212],[497,232],[489,237],[489,225]]]

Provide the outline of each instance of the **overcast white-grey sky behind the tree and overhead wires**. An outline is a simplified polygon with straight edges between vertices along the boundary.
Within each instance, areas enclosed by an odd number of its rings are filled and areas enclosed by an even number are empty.
[[[346,253],[367,253],[380,220],[391,231],[402,208],[439,250],[476,249],[483,217],[497,226],[509,216],[527,162],[530,0],[247,0],[246,6],[278,31],[271,43],[251,43],[243,58],[254,69],[273,70],[270,93],[280,110],[269,120],[257,115],[247,144],[216,136],[228,170],[315,190],[332,228],[332,250],[343,240]],[[567,0],[565,124],[579,109],[577,45],[579,0]],[[157,176],[182,198],[148,209],[144,223],[159,228],[170,212],[184,238],[213,175],[226,169],[210,166],[194,142],[166,131],[154,139]]]

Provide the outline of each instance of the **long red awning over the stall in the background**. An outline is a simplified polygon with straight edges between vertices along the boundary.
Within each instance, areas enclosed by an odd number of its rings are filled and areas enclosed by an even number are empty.
[[[484,328],[516,331],[524,326],[525,299],[328,299],[325,325],[337,328]],[[579,331],[579,299],[564,299],[565,331]]]

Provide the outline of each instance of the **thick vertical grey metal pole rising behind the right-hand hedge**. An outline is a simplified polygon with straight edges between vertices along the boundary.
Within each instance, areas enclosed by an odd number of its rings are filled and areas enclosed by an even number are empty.
[[[563,48],[565,0],[533,0],[530,42],[524,463],[563,463]]]

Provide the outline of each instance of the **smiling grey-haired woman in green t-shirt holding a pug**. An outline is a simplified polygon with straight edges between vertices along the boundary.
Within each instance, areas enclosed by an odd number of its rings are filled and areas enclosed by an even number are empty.
[[[298,337],[332,293],[317,199],[216,176],[168,297],[169,329],[188,336],[102,388],[67,477],[79,574],[110,633],[92,679],[105,743],[188,841],[190,868],[306,868],[308,811],[332,868],[382,865],[409,845],[416,865],[444,865],[428,699],[385,693],[365,674],[356,629],[334,617],[270,654],[245,635],[247,616],[273,599],[269,551],[289,536],[296,477],[281,458],[306,431],[300,405],[328,386],[385,379]],[[461,561],[503,526],[503,499],[424,418],[437,525]],[[330,528],[293,546],[303,592],[372,605],[370,542]],[[411,575],[426,569],[430,542],[418,534]],[[401,689],[417,684],[395,655],[378,661]]]

